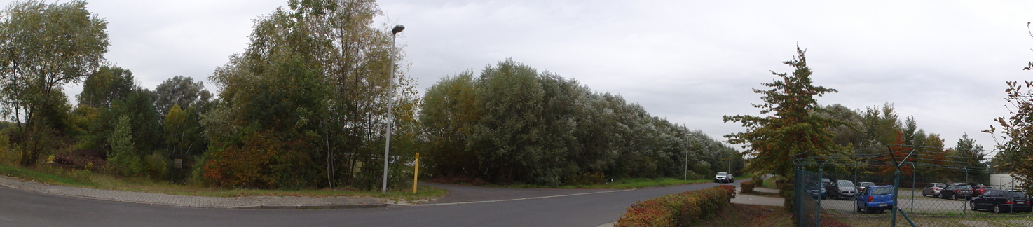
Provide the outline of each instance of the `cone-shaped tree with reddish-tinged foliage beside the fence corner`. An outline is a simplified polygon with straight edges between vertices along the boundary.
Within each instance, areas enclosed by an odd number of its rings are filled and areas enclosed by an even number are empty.
[[[739,122],[746,127],[746,132],[731,133],[725,137],[728,142],[743,144],[747,149],[746,153],[754,156],[747,171],[792,179],[793,155],[837,148],[833,142],[832,132],[826,129],[844,123],[813,113],[829,112],[818,105],[814,96],[820,97],[836,90],[813,85],[811,68],[807,66],[804,53],[796,46],[796,56],[782,62],[795,69],[791,75],[772,72],[778,79],[761,84],[771,88],[770,90],[753,89],[753,92],[763,95],[760,99],[764,101],[753,106],[760,108],[761,115],[770,117],[724,116],[724,122]],[[791,207],[792,189],[782,188],[780,193],[786,197],[786,207]]]

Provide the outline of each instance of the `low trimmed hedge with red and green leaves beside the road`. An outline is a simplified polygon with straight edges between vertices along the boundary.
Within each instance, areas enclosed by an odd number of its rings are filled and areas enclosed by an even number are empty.
[[[631,205],[614,226],[690,226],[714,216],[734,197],[735,187],[727,185],[665,195]]]

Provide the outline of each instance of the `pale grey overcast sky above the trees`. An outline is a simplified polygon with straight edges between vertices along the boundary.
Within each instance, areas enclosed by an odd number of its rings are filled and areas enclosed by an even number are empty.
[[[174,75],[206,82],[247,46],[253,19],[286,0],[92,0],[106,18],[107,61],[153,89]],[[383,0],[376,26],[399,36],[426,91],[439,78],[506,58],[620,94],[654,116],[722,139],[757,115],[751,88],[787,72],[799,43],[822,104],[894,103],[953,147],[1007,113],[1004,82],[1031,79],[1033,1],[463,1]],[[77,86],[68,88],[77,94]],[[213,91],[215,92],[215,91]]]

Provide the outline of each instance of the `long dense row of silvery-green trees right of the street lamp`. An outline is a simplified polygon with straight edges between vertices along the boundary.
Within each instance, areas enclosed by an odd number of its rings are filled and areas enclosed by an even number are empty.
[[[420,109],[429,168],[441,176],[542,185],[683,177],[686,155],[692,179],[724,171],[729,157],[743,166],[700,131],[512,60],[442,78]]]

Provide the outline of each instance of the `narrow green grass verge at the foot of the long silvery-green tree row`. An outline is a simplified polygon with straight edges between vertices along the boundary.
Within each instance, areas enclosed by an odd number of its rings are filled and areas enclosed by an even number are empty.
[[[735,181],[742,181],[750,179],[749,175],[737,176]],[[531,189],[635,189],[635,188],[648,188],[648,187],[664,187],[664,186],[676,186],[676,185],[687,185],[687,184],[698,184],[698,183],[712,183],[714,180],[678,180],[670,177],[660,177],[660,179],[622,179],[614,180],[612,183],[595,184],[595,185],[563,185],[563,186],[541,186],[541,185],[527,185],[527,184],[511,184],[511,185],[493,185],[493,184],[468,184],[468,183],[455,183],[458,185],[474,185],[482,187],[496,187],[496,188],[531,188]]]

